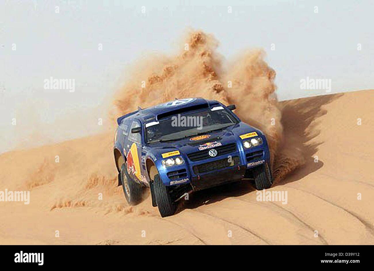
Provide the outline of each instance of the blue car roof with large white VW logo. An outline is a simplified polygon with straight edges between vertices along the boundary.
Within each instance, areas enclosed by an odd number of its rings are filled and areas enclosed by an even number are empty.
[[[203,98],[186,98],[175,99],[174,101],[158,104],[153,107],[148,107],[127,114],[125,116],[132,116],[142,120],[142,122],[154,121],[165,116],[167,113],[175,111],[175,113],[188,110],[197,110],[198,108],[211,107],[212,105],[221,105],[220,102],[215,100],[206,100]],[[125,117],[123,116],[123,117]],[[123,117],[120,117],[121,120]]]

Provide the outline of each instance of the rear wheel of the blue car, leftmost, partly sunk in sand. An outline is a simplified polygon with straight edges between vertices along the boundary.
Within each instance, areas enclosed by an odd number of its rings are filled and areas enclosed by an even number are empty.
[[[123,193],[125,193],[125,198],[127,202],[131,205],[136,205],[140,203],[142,197],[143,188],[140,184],[134,181],[127,172],[127,164],[124,163],[121,166],[121,182]]]

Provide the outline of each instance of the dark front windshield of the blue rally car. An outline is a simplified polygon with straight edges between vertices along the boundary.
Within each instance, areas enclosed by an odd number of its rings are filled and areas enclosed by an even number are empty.
[[[199,135],[224,129],[237,123],[236,118],[227,110],[204,109],[176,114],[145,128],[147,143],[173,141],[188,136]]]

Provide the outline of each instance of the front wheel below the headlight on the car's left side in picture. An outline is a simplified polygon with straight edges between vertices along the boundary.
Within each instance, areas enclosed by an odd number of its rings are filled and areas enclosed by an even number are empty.
[[[163,184],[158,174],[154,176],[153,189],[160,215],[162,217],[174,215],[177,204],[171,198],[169,187]]]

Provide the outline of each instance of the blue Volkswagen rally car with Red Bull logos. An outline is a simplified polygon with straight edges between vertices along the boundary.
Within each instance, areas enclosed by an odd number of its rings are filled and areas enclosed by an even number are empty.
[[[265,135],[232,112],[235,105],[202,98],[141,109],[117,119],[114,159],[130,204],[150,187],[152,205],[173,215],[186,193],[248,179],[258,190],[273,181]]]

